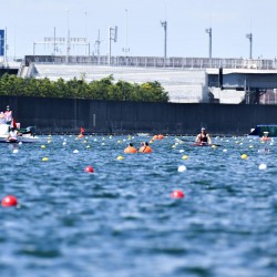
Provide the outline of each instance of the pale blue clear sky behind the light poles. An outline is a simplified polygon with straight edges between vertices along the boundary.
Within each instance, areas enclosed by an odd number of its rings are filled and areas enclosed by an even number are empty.
[[[33,53],[33,43],[44,38],[86,38],[95,53],[100,31],[100,54],[107,54],[109,28],[117,27],[112,55],[164,55],[167,21],[167,57],[208,57],[213,30],[213,58],[277,57],[277,0],[0,0],[0,29],[7,28],[8,57]],[[123,49],[130,49],[123,52]],[[35,54],[52,54],[52,45],[35,44]],[[71,54],[86,54],[84,47],[71,47]],[[66,54],[60,45],[58,54]]]

